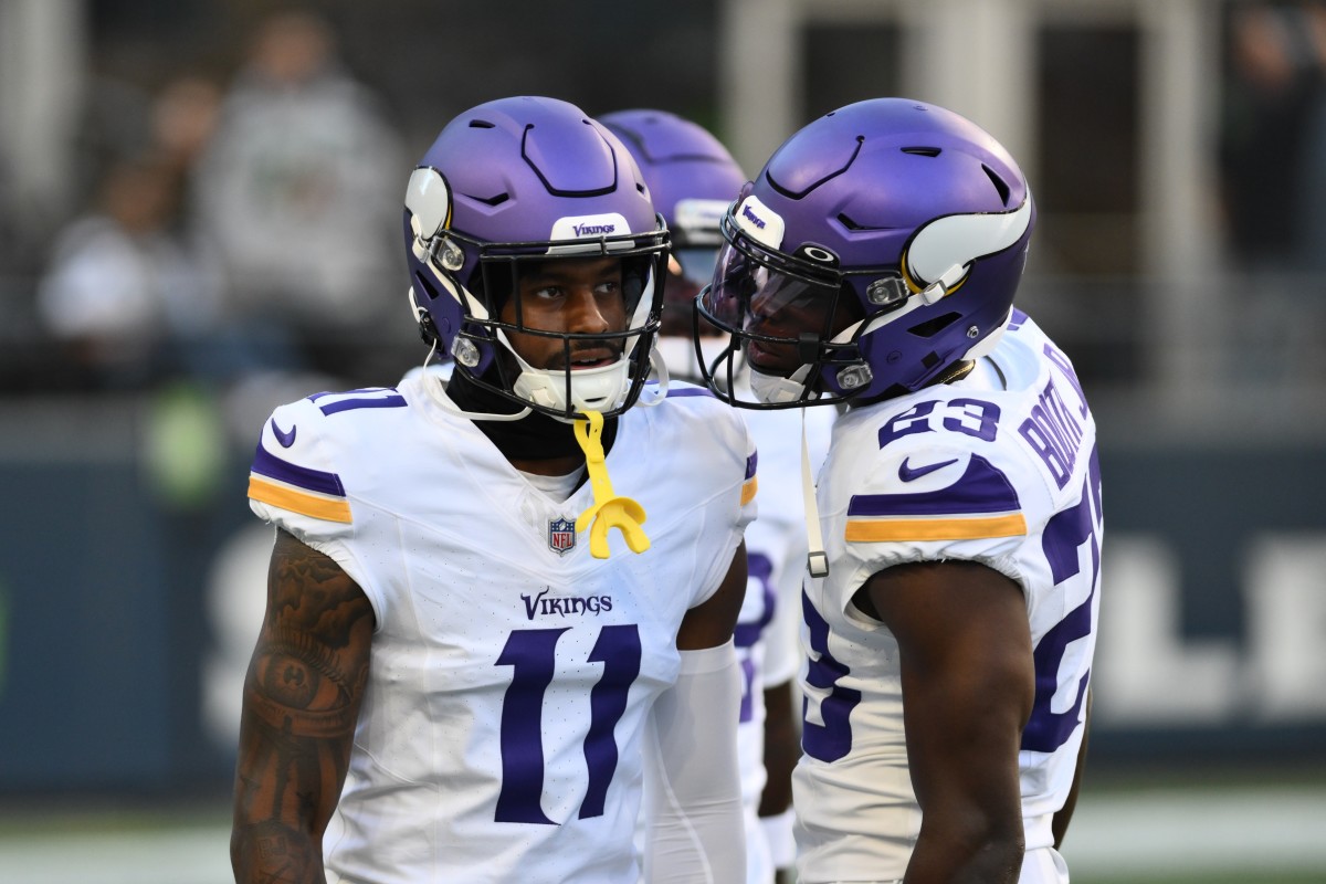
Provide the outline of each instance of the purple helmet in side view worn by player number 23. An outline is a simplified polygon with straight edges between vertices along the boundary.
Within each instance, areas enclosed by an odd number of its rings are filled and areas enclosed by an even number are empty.
[[[705,380],[754,408],[919,390],[994,347],[1034,225],[1017,163],[965,118],[903,98],[821,117],[723,219],[696,323],[731,341]],[[724,392],[743,355],[758,402]]]

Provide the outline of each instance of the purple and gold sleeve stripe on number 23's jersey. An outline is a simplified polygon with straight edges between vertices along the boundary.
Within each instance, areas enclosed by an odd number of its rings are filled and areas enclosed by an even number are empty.
[[[899,478],[934,470],[910,469],[904,460]],[[846,539],[854,543],[969,541],[985,537],[1021,537],[1026,518],[1017,492],[988,460],[972,455],[952,484],[924,492],[855,494],[847,505]]]

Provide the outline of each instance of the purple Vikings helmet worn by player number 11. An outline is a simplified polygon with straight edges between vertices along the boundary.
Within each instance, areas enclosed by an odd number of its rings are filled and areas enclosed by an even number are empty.
[[[621,414],[640,394],[659,325],[667,227],[615,135],[574,105],[503,98],[451,121],[406,191],[410,298],[424,341],[455,371],[561,419]],[[512,300],[522,272],[557,258],[622,261],[626,329],[548,331]],[[514,304],[514,319],[501,319]],[[560,368],[536,368],[512,334],[560,339]],[[573,370],[573,342],[607,342],[611,364]],[[582,346],[577,343],[577,346]]]

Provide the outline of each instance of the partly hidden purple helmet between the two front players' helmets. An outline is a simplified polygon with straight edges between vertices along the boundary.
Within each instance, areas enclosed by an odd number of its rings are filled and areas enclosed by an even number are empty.
[[[747,176],[717,138],[676,114],[619,110],[598,121],[631,151],[672,237],[659,353],[670,375],[700,382],[691,343],[695,296],[713,278],[713,265],[723,245],[723,216]],[[703,342],[709,358],[721,350],[721,346],[712,346],[720,341],[711,335]]]

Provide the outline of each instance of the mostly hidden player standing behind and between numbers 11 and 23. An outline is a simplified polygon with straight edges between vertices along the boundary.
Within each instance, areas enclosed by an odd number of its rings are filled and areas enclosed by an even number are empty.
[[[747,182],[728,150],[700,125],[663,110],[601,115],[635,156],[654,205],[672,235],[663,292],[659,351],[671,378],[703,383],[696,358],[695,296],[713,277],[723,233],[719,224]],[[699,338],[713,359],[724,338]],[[744,384],[744,376],[737,378]],[[760,457],[760,517],[747,527],[747,598],[737,623],[737,656],[745,676],[739,746],[741,799],[747,807],[747,880],[769,884],[790,868],[792,767],[800,755],[793,679],[801,665],[797,624],[806,566],[798,414],[747,412]],[[813,460],[829,449],[834,411],[806,412]]]

